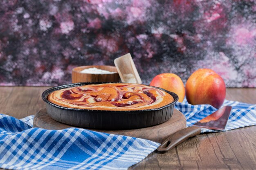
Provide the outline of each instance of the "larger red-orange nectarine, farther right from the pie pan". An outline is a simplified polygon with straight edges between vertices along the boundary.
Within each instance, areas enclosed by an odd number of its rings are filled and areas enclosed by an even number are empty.
[[[198,69],[186,82],[186,99],[190,104],[211,104],[220,108],[225,97],[225,82],[211,69]]]

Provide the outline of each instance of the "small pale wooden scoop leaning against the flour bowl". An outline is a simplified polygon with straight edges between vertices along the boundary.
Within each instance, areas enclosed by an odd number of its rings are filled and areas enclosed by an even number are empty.
[[[142,83],[130,53],[116,58],[114,63],[122,82],[137,84]]]

